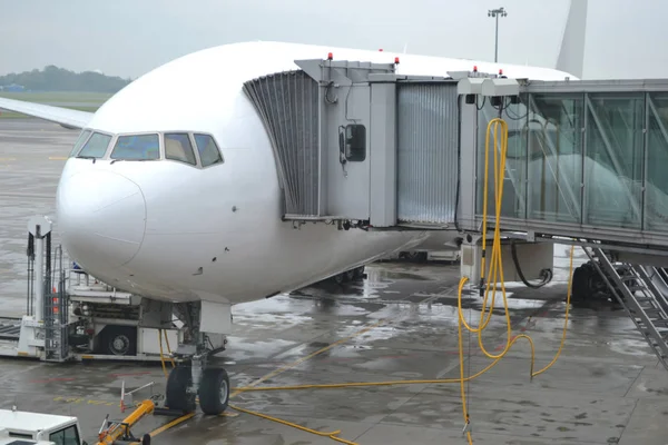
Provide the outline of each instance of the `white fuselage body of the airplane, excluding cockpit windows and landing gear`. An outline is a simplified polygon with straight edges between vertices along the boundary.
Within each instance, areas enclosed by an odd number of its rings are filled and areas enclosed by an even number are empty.
[[[58,228],[70,256],[118,288],[169,300],[232,304],[264,298],[409,249],[428,233],[337,230],[281,220],[269,138],[242,90],[259,76],[294,70],[296,59],[392,62],[389,52],[253,42],[169,62],[105,103],[88,128],[109,135],[202,131],[224,162],[70,158],[58,187]],[[399,55],[399,73],[497,72],[500,66]],[[561,80],[568,73],[501,66],[509,77]],[[111,142],[114,144],[114,142]],[[161,147],[164,150],[164,147]],[[108,154],[107,154],[108,155]],[[442,234],[440,235],[442,236]]]

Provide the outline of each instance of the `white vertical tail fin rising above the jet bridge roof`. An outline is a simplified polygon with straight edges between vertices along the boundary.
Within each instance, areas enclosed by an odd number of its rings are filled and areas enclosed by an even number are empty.
[[[568,19],[563,29],[561,48],[557,58],[557,69],[582,78],[584,66],[584,42],[587,38],[588,0],[571,0]]]

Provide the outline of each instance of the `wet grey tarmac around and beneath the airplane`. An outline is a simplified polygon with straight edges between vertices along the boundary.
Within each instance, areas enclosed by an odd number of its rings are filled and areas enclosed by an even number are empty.
[[[63,162],[56,158],[67,156],[76,136],[39,121],[0,122],[1,316],[24,307],[27,219],[53,214]],[[576,265],[583,260],[577,254]],[[561,340],[568,248],[557,246],[556,257],[556,279],[549,286],[509,285],[511,335],[532,337],[534,370],[552,360]],[[456,380],[458,266],[382,263],[367,267],[367,274],[361,283],[321,285],[235,307],[235,334],[218,358],[233,386],[451,382],[242,392],[230,403],[244,411],[229,408],[220,417],[197,414],[159,432],[153,443],[336,443],[245,412],[249,409],[318,432],[340,431],[335,437],[360,445],[465,444]],[[498,355],[508,338],[503,306],[495,306],[482,338],[488,353]],[[466,295],[463,307],[466,320],[478,325],[481,298]],[[492,362],[475,335],[464,334],[463,347],[465,376]],[[520,338],[497,366],[464,385],[474,444],[668,444],[668,372],[611,304],[571,306],[561,356],[532,379],[530,357],[529,343]],[[79,416],[89,444],[105,415],[122,418],[121,382],[128,388],[155,382],[155,393],[165,383],[159,365],[7,358],[0,359],[0,407],[17,404]],[[150,416],[135,434],[169,421]]]

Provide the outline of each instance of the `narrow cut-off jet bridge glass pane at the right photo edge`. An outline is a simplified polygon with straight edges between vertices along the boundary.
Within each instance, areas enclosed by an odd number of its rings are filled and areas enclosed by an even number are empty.
[[[668,230],[668,95],[647,96],[645,228]]]

